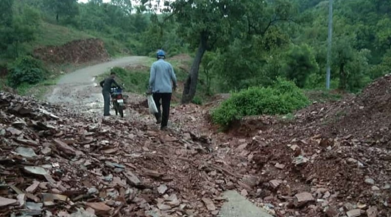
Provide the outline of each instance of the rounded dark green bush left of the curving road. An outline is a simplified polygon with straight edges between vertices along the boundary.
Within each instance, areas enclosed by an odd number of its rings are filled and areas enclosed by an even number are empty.
[[[7,83],[16,88],[22,84],[35,85],[45,79],[47,70],[41,61],[31,56],[18,58],[9,69]]]

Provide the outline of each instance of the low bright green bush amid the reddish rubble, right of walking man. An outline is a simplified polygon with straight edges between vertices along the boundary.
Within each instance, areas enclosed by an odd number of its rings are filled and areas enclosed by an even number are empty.
[[[214,123],[228,128],[244,116],[287,114],[309,103],[293,82],[278,78],[271,87],[249,87],[233,93],[212,111]]]

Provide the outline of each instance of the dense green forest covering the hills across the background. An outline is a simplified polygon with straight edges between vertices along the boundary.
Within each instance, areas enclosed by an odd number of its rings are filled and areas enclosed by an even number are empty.
[[[390,69],[391,1],[333,7],[331,88],[357,92]],[[1,0],[0,10],[9,67],[51,23],[102,39],[112,56],[191,54],[182,102],[194,98],[198,72],[211,92],[268,87],[278,77],[305,89],[326,83],[328,0]]]

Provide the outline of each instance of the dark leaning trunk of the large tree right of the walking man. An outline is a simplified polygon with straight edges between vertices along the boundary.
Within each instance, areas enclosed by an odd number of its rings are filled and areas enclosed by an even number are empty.
[[[206,42],[202,41],[198,45],[197,54],[193,60],[192,68],[187,76],[182,93],[182,104],[190,103],[195,96],[195,89],[198,81],[198,71],[201,59],[206,51]]]

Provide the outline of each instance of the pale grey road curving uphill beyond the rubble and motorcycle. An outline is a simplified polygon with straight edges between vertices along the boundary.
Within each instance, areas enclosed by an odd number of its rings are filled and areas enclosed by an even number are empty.
[[[101,112],[103,97],[101,87],[95,77],[108,71],[110,67],[142,64],[148,57],[130,56],[107,63],[88,66],[64,75],[53,91],[46,95],[48,102],[66,104],[75,109]]]

